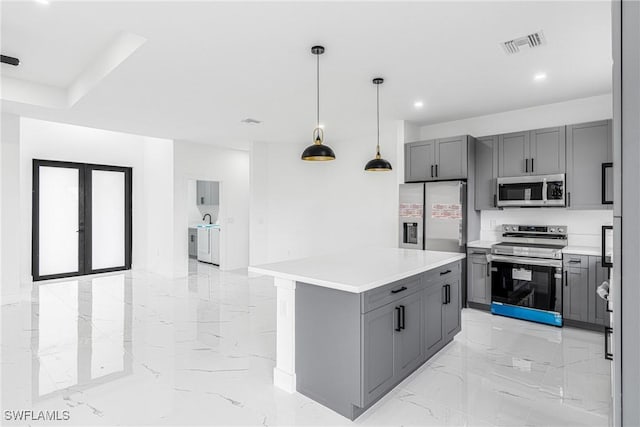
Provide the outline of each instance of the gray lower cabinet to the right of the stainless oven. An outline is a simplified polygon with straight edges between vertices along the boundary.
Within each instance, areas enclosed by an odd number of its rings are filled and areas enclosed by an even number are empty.
[[[599,256],[570,255],[564,260],[563,313],[571,326],[593,329],[609,326],[606,302],[596,294],[600,284],[609,277]],[[575,323],[577,322],[577,323]]]

